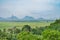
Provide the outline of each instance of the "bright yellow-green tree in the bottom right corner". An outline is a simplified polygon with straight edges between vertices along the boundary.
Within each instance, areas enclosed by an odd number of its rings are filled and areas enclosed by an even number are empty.
[[[45,30],[42,35],[46,40],[60,40],[60,32],[57,30]]]

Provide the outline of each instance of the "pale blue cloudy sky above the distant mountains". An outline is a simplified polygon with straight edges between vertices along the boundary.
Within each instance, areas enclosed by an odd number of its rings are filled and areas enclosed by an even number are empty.
[[[0,0],[0,17],[59,18],[60,0]]]

